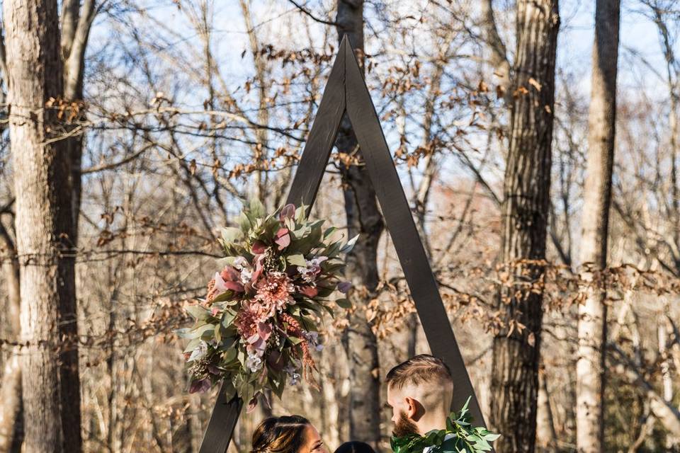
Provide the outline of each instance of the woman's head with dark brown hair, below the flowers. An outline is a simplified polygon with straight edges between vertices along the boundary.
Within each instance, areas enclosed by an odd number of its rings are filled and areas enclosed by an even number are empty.
[[[328,453],[317,428],[300,415],[270,417],[253,433],[251,453]]]

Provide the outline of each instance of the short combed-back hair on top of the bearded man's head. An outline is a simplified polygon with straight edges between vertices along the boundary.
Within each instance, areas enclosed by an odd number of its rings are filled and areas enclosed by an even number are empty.
[[[429,354],[421,354],[390,369],[385,382],[391,389],[403,389],[405,386],[423,384],[453,386],[453,377],[451,377],[450,369],[441,359]]]

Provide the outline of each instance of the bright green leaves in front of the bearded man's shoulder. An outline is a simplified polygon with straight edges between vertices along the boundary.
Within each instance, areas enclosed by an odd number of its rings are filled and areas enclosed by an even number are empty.
[[[417,434],[392,437],[390,446],[394,453],[483,453],[490,452],[491,442],[500,435],[482,426],[472,428],[472,417],[467,411],[470,398],[458,412],[446,418],[446,430],[431,430],[426,435]]]

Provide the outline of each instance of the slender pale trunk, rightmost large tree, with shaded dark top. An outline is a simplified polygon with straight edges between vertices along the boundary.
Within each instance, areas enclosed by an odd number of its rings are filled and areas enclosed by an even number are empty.
[[[620,0],[598,0],[588,115],[588,161],[582,209],[582,278],[607,265],[607,234],[616,127],[616,67]],[[577,353],[577,449],[604,451],[606,292],[597,283],[584,287],[579,304]]]

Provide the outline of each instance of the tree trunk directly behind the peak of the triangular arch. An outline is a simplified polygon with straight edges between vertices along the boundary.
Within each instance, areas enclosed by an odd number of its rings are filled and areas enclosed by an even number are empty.
[[[363,0],[338,0],[338,35],[347,35],[359,52],[363,68]],[[336,142],[341,153],[361,156],[348,117],[345,115]],[[361,157],[360,157],[361,159]],[[348,355],[351,391],[349,396],[349,435],[373,447],[380,442],[380,367],[378,340],[365,319],[363,307],[378,286],[378,241],[384,223],[375,190],[363,165],[341,167],[345,212],[349,236],[361,234],[347,256],[346,276],[353,283],[350,300],[356,307],[344,336]]]

